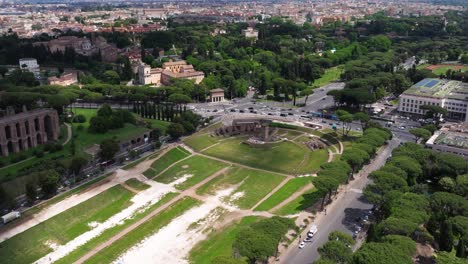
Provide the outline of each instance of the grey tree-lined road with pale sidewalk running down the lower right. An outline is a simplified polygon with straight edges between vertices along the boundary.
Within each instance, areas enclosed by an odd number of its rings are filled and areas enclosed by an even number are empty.
[[[381,150],[377,157],[367,166],[365,166],[360,175],[348,184],[336,199],[327,207],[327,215],[320,214],[315,220],[318,226],[318,232],[312,242],[306,243],[305,248],[297,247],[299,240],[292,243],[289,250],[280,257],[280,263],[287,264],[309,264],[319,258],[317,249],[328,241],[328,234],[338,230],[344,233],[352,234],[355,229],[356,218],[362,215],[364,211],[372,208],[372,205],[362,199],[362,189],[369,183],[367,176],[372,171],[379,169],[385,164],[392,150],[398,146],[400,141],[393,139]],[[301,235],[306,237],[307,229]]]

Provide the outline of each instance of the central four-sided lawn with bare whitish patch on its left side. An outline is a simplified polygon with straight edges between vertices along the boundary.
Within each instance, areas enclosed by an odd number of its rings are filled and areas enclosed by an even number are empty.
[[[226,173],[198,188],[197,193],[213,195],[217,190],[240,184],[232,194],[242,192],[243,195],[232,201],[232,204],[241,209],[250,209],[284,179],[284,176],[278,174],[232,167]]]

